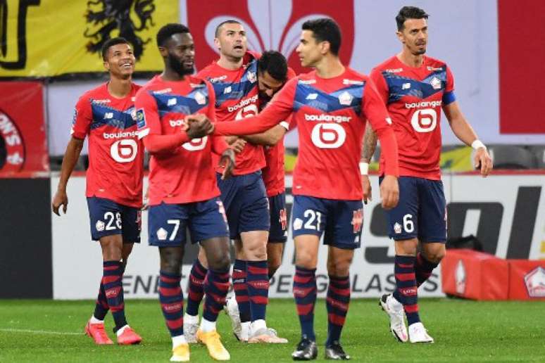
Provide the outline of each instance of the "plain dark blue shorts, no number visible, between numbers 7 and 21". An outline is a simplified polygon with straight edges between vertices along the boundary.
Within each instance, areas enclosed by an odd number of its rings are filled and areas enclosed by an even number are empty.
[[[235,175],[222,180],[216,174],[221,200],[225,205],[230,238],[240,238],[242,232],[268,231],[270,228],[269,200],[261,170]]]

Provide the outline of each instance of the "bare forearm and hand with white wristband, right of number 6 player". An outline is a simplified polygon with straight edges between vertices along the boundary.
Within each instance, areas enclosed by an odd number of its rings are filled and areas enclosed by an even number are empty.
[[[492,170],[492,159],[487,151],[487,147],[479,140],[475,130],[473,130],[460,110],[458,102],[453,101],[447,105],[444,104],[443,111],[456,137],[466,145],[475,148],[475,157],[473,159],[475,169],[480,169],[481,175],[487,177]]]

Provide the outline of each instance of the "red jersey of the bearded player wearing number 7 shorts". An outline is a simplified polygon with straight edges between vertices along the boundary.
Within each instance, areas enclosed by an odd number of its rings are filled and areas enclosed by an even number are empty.
[[[203,113],[215,120],[215,95],[210,83],[195,77],[169,82],[157,75],[136,99],[140,137],[180,134],[184,117]],[[149,164],[149,204],[193,203],[220,195],[212,152],[223,153],[223,137],[204,136],[168,151],[152,153]]]

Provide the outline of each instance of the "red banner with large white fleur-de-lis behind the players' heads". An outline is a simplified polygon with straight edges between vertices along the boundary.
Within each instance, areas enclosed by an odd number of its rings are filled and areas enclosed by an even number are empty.
[[[340,58],[350,64],[354,39],[353,2],[346,1],[339,6],[335,0],[314,1],[309,6],[303,0],[215,1],[213,6],[203,6],[201,0],[187,0],[187,23],[195,42],[196,67],[200,70],[219,58],[214,45],[215,27],[225,20],[239,21],[246,30],[248,47],[252,51],[276,50],[287,58],[296,71],[308,72],[302,68],[295,53],[299,45],[301,25],[306,20],[332,18],[341,27],[342,47]]]

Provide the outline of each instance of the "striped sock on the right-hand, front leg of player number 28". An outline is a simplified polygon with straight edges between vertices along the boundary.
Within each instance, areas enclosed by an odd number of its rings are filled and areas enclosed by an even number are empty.
[[[115,322],[114,331],[127,325],[125,319],[125,301],[123,300],[123,265],[120,261],[104,261],[102,284],[104,295]]]

